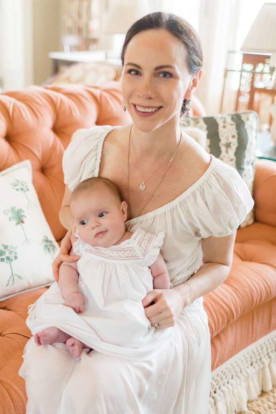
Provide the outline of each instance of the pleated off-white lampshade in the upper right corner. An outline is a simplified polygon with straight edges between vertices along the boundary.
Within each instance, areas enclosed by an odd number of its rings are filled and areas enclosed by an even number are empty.
[[[243,52],[276,52],[276,3],[264,3],[242,44]]]

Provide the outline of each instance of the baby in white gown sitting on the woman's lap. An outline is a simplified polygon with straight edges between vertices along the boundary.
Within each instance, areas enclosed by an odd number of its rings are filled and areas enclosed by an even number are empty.
[[[106,178],[79,183],[70,209],[77,228],[70,255],[80,259],[62,263],[58,283],[31,310],[26,323],[34,341],[38,346],[63,342],[74,357],[93,348],[146,358],[170,330],[151,327],[142,306],[150,290],[170,288],[160,253],[164,233],[125,231],[127,203]]]

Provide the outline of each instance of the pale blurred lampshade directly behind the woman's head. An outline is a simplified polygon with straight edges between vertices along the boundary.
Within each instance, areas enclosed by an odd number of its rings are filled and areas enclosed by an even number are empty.
[[[111,0],[105,22],[106,34],[126,33],[136,20],[149,13],[144,0]]]

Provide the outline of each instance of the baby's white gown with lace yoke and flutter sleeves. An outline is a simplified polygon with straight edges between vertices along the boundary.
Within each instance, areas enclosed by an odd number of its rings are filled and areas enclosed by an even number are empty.
[[[76,313],[64,306],[55,282],[38,298],[26,320],[32,335],[55,326],[96,351],[134,361],[160,352],[172,328],[151,327],[142,299],[153,289],[149,266],[160,252],[164,233],[156,236],[138,228],[130,239],[107,248],[90,246],[78,233],[75,236],[85,310]]]

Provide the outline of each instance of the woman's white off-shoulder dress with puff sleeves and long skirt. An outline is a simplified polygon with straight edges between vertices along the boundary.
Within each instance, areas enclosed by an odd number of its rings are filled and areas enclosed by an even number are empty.
[[[63,157],[71,191],[98,176],[103,142],[113,128],[75,132]],[[252,207],[238,172],[211,156],[209,168],[188,190],[127,221],[127,229],[165,232],[161,253],[173,287],[201,265],[201,239],[230,235]],[[87,350],[73,359],[64,344],[36,347],[31,338],[19,374],[26,381],[27,414],[207,414],[211,347],[203,298],[180,312],[166,345],[146,361]]]

